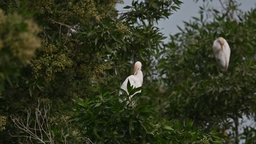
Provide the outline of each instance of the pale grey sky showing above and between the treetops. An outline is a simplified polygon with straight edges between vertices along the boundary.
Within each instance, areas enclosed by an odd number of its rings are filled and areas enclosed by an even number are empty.
[[[182,1],[182,0],[181,0]],[[124,0],[124,4],[117,4],[118,10],[123,10],[123,7],[126,5],[131,5],[132,0]],[[193,0],[185,0],[182,1],[183,4],[181,5],[181,9],[178,11],[174,11],[174,14],[169,17],[169,19],[160,21],[158,23],[159,28],[163,28],[161,31],[165,34],[166,37],[168,37],[170,34],[175,34],[179,30],[177,28],[177,25],[179,27],[184,27],[183,21],[189,21],[191,20],[192,16],[200,16],[199,15],[199,6],[203,5],[202,0],[195,3]],[[243,11],[248,11],[251,8],[255,7],[256,1],[255,0],[238,0],[239,3],[241,3],[240,8]],[[217,0],[213,0],[210,4],[213,5],[214,8],[220,9],[220,3]],[[168,41],[168,38],[165,39],[165,42]]]

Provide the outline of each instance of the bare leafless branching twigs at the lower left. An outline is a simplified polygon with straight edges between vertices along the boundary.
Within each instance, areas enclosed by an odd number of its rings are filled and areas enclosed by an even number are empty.
[[[22,139],[27,143],[55,143],[55,135],[50,127],[50,105],[40,106],[40,100],[38,100],[37,107],[33,109],[28,109],[26,118],[16,117],[11,115],[11,120],[14,122],[14,127],[16,128],[16,135],[11,135],[13,137],[22,137]],[[34,111],[34,118],[31,117],[31,111]],[[32,113],[33,115],[33,113]],[[67,128],[67,134],[69,133],[68,122],[63,118]],[[61,129],[61,141],[62,143],[68,144],[68,135],[65,133],[65,129]],[[88,137],[78,137],[80,139],[85,138],[85,143],[93,142]],[[18,139],[19,143],[21,139]]]

